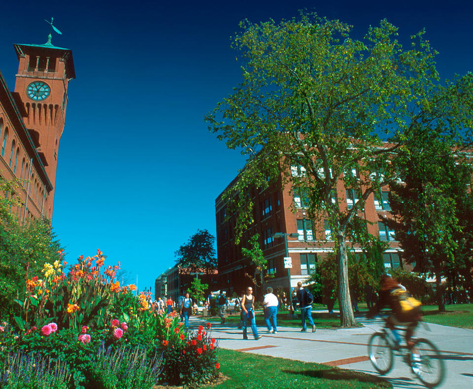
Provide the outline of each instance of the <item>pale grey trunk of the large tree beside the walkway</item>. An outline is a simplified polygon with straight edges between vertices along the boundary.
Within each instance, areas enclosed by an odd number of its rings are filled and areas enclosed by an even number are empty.
[[[337,236],[337,278],[338,278],[338,305],[340,308],[340,324],[342,327],[351,327],[356,324],[351,306],[350,291],[348,289],[348,257],[346,255],[346,240],[344,233]]]

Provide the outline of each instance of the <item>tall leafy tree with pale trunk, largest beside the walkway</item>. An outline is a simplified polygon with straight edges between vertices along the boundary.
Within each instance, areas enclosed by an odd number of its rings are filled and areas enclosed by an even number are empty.
[[[449,139],[468,127],[471,111],[461,95],[468,90],[439,84],[436,52],[423,31],[405,49],[386,20],[362,40],[350,37],[347,24],[305,13],[280,23],[245,20],[240,27],[233,46],[243,79],[206,116],[210,131],[247,156],[223,195],[236,215],[236,235],[253,222],[250,189],[280,182],[283,172],[282,185],[308,198],[309,216],[331,226],[341,324],[353,325],[348,233],[363,224],[360,210],[369,196],[399,177],[393,161],[406,140],[424,127],[448,132]],[[471,84],[470,75],[464,85]],[[351,209],[332,201],[345,196],[336,191],[341,180],[357,194]]]

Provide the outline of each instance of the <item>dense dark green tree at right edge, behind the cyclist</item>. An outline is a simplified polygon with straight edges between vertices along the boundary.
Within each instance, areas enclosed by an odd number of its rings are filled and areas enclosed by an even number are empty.
[[[461,150],[453,155],[448,143],[430,135],[417,134],[400,153],[405,183],[391,184],[394,219],[386,223],[396,231],[414,270],[435,277],[439,311],[445,311],[442,277],[450,283],[459,271],[467,281],[472,277],[472,166]]]

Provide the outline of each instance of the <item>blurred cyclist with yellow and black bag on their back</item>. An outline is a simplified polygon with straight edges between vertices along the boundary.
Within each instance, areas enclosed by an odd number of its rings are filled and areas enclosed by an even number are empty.
[[[371,318],[386,305],[389,305],[392,310],[392,314],[386,320],[386,327],[392,331],[397,344],[399,344],[401,337],[396,332],[394,326],[406,326],[405,341],[407,347],[413,347],[414,342],[410,338],[422,317],[420,309],[422,304],[414,299],[405,287],[393,279],[391,275],[384,273],[381,275],[379,299],[368,312],[367,317]]]

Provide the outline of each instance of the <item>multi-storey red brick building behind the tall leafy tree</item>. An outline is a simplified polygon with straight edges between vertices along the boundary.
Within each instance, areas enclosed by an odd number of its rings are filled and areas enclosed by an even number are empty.
[[[300,172],[298,173],[297,168],[293,166],[291,174],[296,175]],[[238,177],[228,187],[234,185],[237,179]],[[264,191],[254,190],[250,194],[255,204],[254,222],[243,233],[238,245],[235,244],[233,221],[231,218],[226,221],[227,208],[222,201],[222,194],[217,197],[215,200],[217,259],[221,288],[240,294],[248,285],[252,285],[252,278],[257,278],[250,259],[241,254],[241,248],[248,247],[248,240],[255,233],[260,235],[260,247],[268,260],[268,272],[273,275],[267,280],[267,286],[273,289],[282,287],[286,293],[289,291],[289,277],[283,260],[286,257],[285,243],[283,237],[274,238],[274,233],[296,235],[296,237],[287,236],[289,257],[292,259],[291,288],[294,288],[298,281],[304,283],[308,275],[316,271],[317,263],[334,252],[335,242],[327,221],[323,218],[310,220],[304,198],[297,194],[291,195],[290,189],[290,185],[283,190],[270,187]],[[388,243],[389,247],[383,253],[385,268],[397,268],[402,266],[402,249],[396,241],[394,231],[388,230],[382,222],[383,218],[390,217],[388,192],[389,189],[383,187],[380,199],[371,194],[359,216],[372,222],[367,224],[369,233],[379,236]],[[351,208],[357,201],[356,195],[356,191],[345,188],[343,181],[340,180],[337,186],[337,199],[334,195],[332,201],[338,201],[340,209]],[[291,206],[295,207],[295,213],[292,212]],[[352,246],[350,243],[349,248],[355,255],[363,255],[359,245]]]

